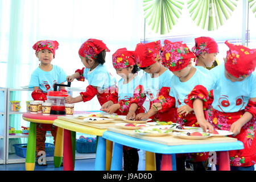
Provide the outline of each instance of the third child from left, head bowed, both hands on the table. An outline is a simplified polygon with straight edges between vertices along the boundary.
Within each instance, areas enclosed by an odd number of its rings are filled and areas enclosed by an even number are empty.
[[[119,109],[127,119],[135,119],[138,113],[144,113],[142,106],[146,96],[142,94],[140,77],[137,75],[138,66],[135,64],[134,51],[127,51],[126,48],[118,49],[113,54],[113,67],[122,78],[118,81],[118,101],[112,96],[108,102],[102,105],[102,110],[112,114]],[[117,104],[114,104],[117,102]],[[137,171],[139,163],[138,150],[123,146],[124,171]]]

